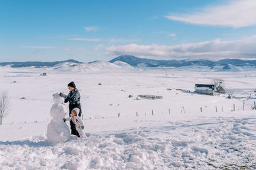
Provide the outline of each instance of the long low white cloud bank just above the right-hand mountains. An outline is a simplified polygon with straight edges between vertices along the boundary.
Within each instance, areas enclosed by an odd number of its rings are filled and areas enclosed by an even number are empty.
[[[164,58],[209,58],[252,57],[256,58],[256,35],[235,41],[214,39],[200,43],[187,43],[175,46],[165,45],[124,45],[109,46],[110,55],[135,55],[137,57]]]

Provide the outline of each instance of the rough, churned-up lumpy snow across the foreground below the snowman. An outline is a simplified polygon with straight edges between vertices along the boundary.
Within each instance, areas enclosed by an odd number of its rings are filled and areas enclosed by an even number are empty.
[[[253,169],[255,118],[195,121],[86,134],[56,145],[44,136],[0,142],[0,164],[3,169]]]

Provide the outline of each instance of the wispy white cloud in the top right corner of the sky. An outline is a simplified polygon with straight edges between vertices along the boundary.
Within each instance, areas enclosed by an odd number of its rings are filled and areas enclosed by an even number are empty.
[[[256,24],[255,9],[255,0],[229,0],[228,4],[206,7],[192,14],[178,14],[164,17],[191,24],[238,28]]]

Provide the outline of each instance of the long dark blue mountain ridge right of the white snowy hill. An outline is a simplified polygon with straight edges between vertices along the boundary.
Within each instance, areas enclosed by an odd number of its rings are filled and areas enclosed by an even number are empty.
[[[240,60],[240,59],[223,59],[218,61],[212,60],[154,60],[141,59],[133,55],[121,55],[109,62],[122,61],[134,67],[184,67],[184,66],[223,66],[223,69],[230,69],[233,66],[253,66],[256,67],[256,60]]]

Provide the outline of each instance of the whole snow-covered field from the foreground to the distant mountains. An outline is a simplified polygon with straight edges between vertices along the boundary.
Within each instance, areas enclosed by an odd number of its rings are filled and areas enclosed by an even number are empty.
[[[0,67],[0,90],[11,98],[10,114],[0,126],[0,169],[256,168],[256,71],[118,65]],[[236,99],[193,93],[195,83],[214,78],[225,80]],[[51,145],[45,134],[52,94],[67,94],[70,81],[81,92],[86,139],[72,136]],[[136,100],[141,94],[163,99]]]

